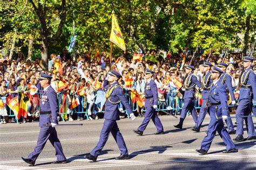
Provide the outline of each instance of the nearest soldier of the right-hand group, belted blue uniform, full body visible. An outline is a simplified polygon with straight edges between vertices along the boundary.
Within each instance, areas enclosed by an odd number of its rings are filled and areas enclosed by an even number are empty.
[[[213,80],[212,87],[210,89],[210,96],[206,105],[210,112],[210,123],[208,125],[207,136],[201,143],[201,148],[196,150],[200,154],[207,154],[216,131],[219,133],[221,139],[223,139],[226,150],[223,153],[238,152],[235,148],[230,134],[224,128],[223,119],[227,119],[228,107],[227,107],[227,93],[225,84],[222,84],[219,77],[223,74],[223,71],[218,67],[213,66],[211,79]]]

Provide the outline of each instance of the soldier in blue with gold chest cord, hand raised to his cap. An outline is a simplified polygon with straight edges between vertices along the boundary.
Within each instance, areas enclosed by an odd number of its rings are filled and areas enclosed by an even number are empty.
[[[108,73],[103,83],[107,99],[104,114],[105,121],[102,131],[100,132],[99,142],[97,146],[93,148],[89,155],[85,155],[86,159],[92,160],[94,162],[97,161],[97,157],[102,151],[104,145],[106,144],[110,132],[112,133],[114,140],[116,140],[118,148],[121,152],[120,156],[117,157],[116,160],[129,159],[129,154],[124,142],[124,138],[120,133],[116,122],[120,120],[118,104],[121,102],[124,105],[132,120],[134,120],[136,117],[134,116],[132,108],[124,95],[123,88],[118,84],[118,80],[121,77],[122,75],[112,70],[112,72]]]

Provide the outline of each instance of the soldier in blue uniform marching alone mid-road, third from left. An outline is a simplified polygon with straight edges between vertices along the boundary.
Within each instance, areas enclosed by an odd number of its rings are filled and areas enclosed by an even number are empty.
[[[152,70],[146,69],[145,72],[145,107],[146,113],[143,119],[142,124],[139,126],[137,130],[133,130],[134,133],[139,134],[139,136],[143,135],[144,130],[146,129],[147,124],[149,124],[150,119],[152,119],[154,125],[157,128],[157,132],[154,134],[164,134],[163,125],[157,116],[157,105],[158,105],[158,92],[157,92],[157,84],[153,81],[154,72]]]

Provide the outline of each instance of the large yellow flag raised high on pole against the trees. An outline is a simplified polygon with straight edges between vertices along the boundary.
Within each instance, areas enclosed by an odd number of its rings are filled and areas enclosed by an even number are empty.
[[[125,51],[124,37],[118,25],[117,18],[114,15],[114,11],[112,11],[112,29],[109,40]]]

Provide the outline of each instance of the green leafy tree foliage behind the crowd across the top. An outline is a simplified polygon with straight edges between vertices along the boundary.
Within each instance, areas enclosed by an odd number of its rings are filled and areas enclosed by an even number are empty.
[[[27,3],[26,3],[27,2]],[[53,38],[60,24],[61,1],[33,1],[45,6],[45,20],[49,39]],[[251,28],[255,28],[256,2],[237,1],[142,1],[142,0],[77,0],[66,1],[66,20],[62,35],[50,46],[49,53],[59,53],[68,47],[73,35],[78,36],[76,50],[79,53],[99,51],[110,52],[111,12],[116,13],[120,29],[130,53],[144,53],[152,49],[163,49],[177,53],[185,45],[195,48],[200,45],[205,53],[215,41],[214,49],[227,47],[233,40],[232,48],[242,48],[245,34],[246,16],[251,16]],[[15,51],[28,47],[28,39],[34,39],[33,56],[39,55],[42,41],[42,24],[30,1],[0,1],[0,41],[10,49],[12,38],[17,31]],[[253,38],[251,29],[250,36]],[[1,48],[1,47],[0,47]],[[113,45],[113,56],[118,57],[122,50]],[[146,56],[154,61],[154,57]]]

